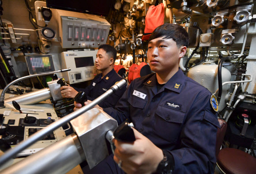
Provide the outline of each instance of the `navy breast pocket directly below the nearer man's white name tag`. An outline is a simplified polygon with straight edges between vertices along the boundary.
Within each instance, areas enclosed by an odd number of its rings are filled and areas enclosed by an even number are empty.
[[[128,102],[130,103],[130,114],[132,122],[136,123],[136,121],[139,120],[139,117],[142,116],[142,110],[145,107],[147,101],[132,95],[130,98],[128,98]]]

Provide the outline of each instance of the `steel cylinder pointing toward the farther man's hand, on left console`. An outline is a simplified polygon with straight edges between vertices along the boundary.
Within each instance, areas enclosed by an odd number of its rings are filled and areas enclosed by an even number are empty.
[[[17,95],[15,97],[7,98],[4,100],[5,103],[11,104],[12,101],[16,101],[19,103],[19,105],[33,105],[35,103],[38,103],[40,101],[47,100],[51,98],[51,92],[49,87],[46,87],[44,89],[33,91],[26,94]]]

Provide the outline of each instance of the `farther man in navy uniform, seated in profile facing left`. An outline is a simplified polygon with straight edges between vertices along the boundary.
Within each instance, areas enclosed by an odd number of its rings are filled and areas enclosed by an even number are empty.
[[[60,87],[63,98],[75,98],[78,91],[83,91],[87,95],[87,99],[92,101],[105,93],[115,83],[123,78],[117,74],[114,70],[114,63],[117,58],[117,51],[114,47],[103,44],[98,47],[96,54],[96,69],[102,71],[94,77],[90,85],[86,88],[76,88],[71,86]],[[120,90],[109,96],[105,101],[99,103],[102,108],[115,107],[119,98],[124,94],[126,87],[122,87]]]

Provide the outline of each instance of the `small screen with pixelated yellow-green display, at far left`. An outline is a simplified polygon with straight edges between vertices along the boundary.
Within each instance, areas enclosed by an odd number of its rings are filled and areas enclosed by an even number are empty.
[[[30,74],[55,71],[51,55],[26,56],[26,64]]]

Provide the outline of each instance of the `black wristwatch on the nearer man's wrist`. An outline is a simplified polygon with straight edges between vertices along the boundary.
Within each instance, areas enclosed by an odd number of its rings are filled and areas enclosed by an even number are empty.
[[[158,164],[156,173],[157,174],[172,174],[174,168],[173,156],[163,150],[164,159]]]

